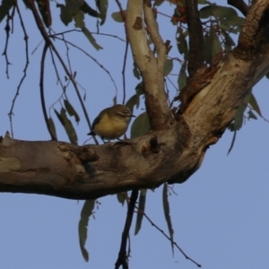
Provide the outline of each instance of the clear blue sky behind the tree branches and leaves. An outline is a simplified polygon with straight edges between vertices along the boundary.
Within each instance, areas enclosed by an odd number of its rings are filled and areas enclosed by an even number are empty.
[[[51,2],[52,6],[55,4]],[[114,1],[109,2],[108,22],[100,32],[124,36],[123,24],[109,18],[117,11]],[[39,45],[41,37],[32,26],[30,11],[20,3],[25,19],[29,39],[30,54]],[[167,13],[171,13],[166,4]],[[57,22],[54,30],[66,30]],[[169,19],[160,16],[160,28],[163,39],[174,42],[175,27],[169,25]],[[6,80],[4,57],[0,61],[0,135],[10,130],[7,114],[25,64],[24,43],[18,19],[15,21],[14,34],[10,39],[9,65],[10,79]],[[88,28],[96,30],[96,22],[90,17],[85,20]],[[4,24],[1,26],[1,49],[4,50]],[[71,27],[73,28],[73,22]],[[122,61],[125,43],[113,38],[96,37],[104,49],[97,52],[81,33],[66,36],[66,39],[82,46],[101,65],[104,65],[117,83],[117,100],[122,101]],[[237,40],[237,39],[235,39]],[[13,117],[14,137],[21,140],[49,140],[47,128],[40,110],[39,64],[43,43],[30,56],[27,78],[16,101]],[[65,47],[56,41],[57,48],[65,56]],[[169,56],[178,56],[176,45]],[[91,59],[86,58],[73,48],[70,49],[73,71],[76,79],[86,89],[85,104],[91,120],[100,109],[112,105],[115,88],[105,73]],[[178,56],[179,57],[179,56]],[[134,94],[138,81],[132,74],[133,61],[128,55],[126,69],[127,97]],[[60,66],[60,65],[58,65]],[[59,67],[60,68],[60,67]],[[174,74],[178,74],[179,65],[175,63]],[[64,74],[61,72],[64,80]],[[46,101],[50,107],[61,95],[50,57],[46,62]],[[173,79],[173,77],[172,77]],[[177,78],[176,78],[177,79]],[[174,79],[174,81],[176,81]],[[174,89],[169,84],[171,95]],[[269,82],[259,82],[254,94],[265,117],[269,118]],[[85,93],[82,91],[82,95]],[[67,94],[78,109],[81,122],[76,126],[79,143],[85,142],[89,131],[72,86]],[[61,108],[57,103],[56,109]],[[143,112],[143,100],[135,111],[138,116]],[[58,139],[68,141],[65,131],[55,119]],[[74,121],[73,121],[74,122]],[[268,266],[269,241],[269,125],[259,118],[247,121],[237,134],[232,152],[227,156],[232,134],[227,131],[220,142],[213,145],[204,158],[204,163],[195,174],[182,185],[176,185],[177,195],[169,196],[171,219],[175,231],[175,241],[197,263],[208,269],[251,269]],[[92,140],[90,143],[93,143]],[[154,193],[148,192],[145,212],[162,230],[167,231],[161,202],[162,187]],[[49,197],[45,195],[0,195],[0,253],[1,268],[113,268],[117,260],[121,232],[126,218],[126,206],[117,202],[115,195],[99,199],[100,208],[95,211],[95,219],[90,220],[86,247],[90,252],[90,262],[85,263],[78,241],[78,221],[83,201]],[[135,219],[134,219],[135,220]],[[140,233],[134,237],[134,225],[131,229],[130,268],[195,268],[178,249],[172,256],[170,242],[143,220]]]

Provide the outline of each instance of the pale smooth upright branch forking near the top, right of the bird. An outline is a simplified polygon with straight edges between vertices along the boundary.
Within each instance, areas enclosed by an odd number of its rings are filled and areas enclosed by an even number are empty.
[[[134,61],[142,76],[145,89],[145,105],[152,130],[161,130],[173,125],[174,119],[169,111],[164,91],[163,65],[166,61],[165,45],[157,30],[149,4],[143,0],[130,0],[126,11],[126,30],[133,51]],[[149,28],[149,34],[158,52],[155,58],[148,45],[143,23],[143,11]]]

